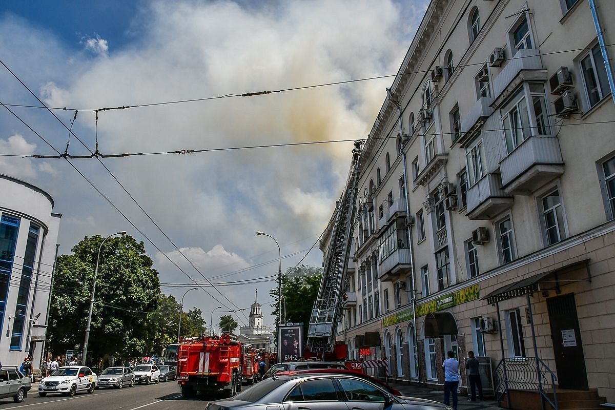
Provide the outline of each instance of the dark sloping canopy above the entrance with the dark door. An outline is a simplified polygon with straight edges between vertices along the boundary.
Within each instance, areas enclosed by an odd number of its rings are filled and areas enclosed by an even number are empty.
[[[541,272],[539,274],[530,276],[528,278],[522,279],[518,282],[510,283],[509,285],[502,286],[497,290],[494,290],[487,296],[484,296],[482,299],[486,299],[489,304],[496,304],[498,302],[506,301],[508,299],[518,298],[519,296],[529,296],[534,292],[538,292],[540,290],[550,290],[549,286],[541,286],[539,283],[555,283],[556,289],[559,289],[559,286],[563,283],[569,282],[581,282],[581,280],[564,280],[560,277],[560,275],[566,274],[568,272],[573,272],[577,270],[579,267],[585,267],[587,270],[587,279],[591,280],[591,276],[589,273],[589,259],[583,259],[582,261],[577,261],[566,266],[558,267],[557,269],[547,270],[546,272]]]

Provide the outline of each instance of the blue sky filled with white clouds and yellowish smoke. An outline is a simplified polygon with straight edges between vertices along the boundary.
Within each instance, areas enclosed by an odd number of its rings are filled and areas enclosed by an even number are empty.
[[[47,106],[66,107],[52,111],[68,127],[77,109],[72,130],[89,149],[98,140],[103,154],[215,151],[101,160],[164,234],[100,162],[73,160],[159,250],[63,159],[0,156],[0,173],[52,195],[63,214],[60,253],[86,236],[128,231],[145,242],[161,282],[185,284],[164,293],[181,299],[190,278],[230,284],[218,287],[223,295],[190,291],[186,310],[202,309],[209,322],[223,306],[214,323],[227,310],[247,316],[255,289],[268,305],[277,286],[262,281],[277,273],[278,248],[256,231],[279,243],[283,272],[302,258],[321,266],[312,245],[346,182],[352,140],[367,137],[392,79],[218,97],[396,74],[427,4],[3,0],[0,60]],[[40,106],[4,66],[0,101]],[[186,102],[159,104],[169,101]],[[58,151],[69,141],[69,154],[90,154],[49,111],[10,108]],[[347,141],[284,146],[334,140]],[[0,154],[55,152],[0,106]]]

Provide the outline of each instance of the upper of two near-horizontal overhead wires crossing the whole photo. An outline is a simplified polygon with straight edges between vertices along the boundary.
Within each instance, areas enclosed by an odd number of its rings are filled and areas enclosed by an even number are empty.
[[[605,47],[612,47],[613,45],[615,45],[615,43],[614,44],[605,44]],[[552,51],[552,52],[547,52],[547,53],[540,53],[540,56],[542,57],[542,56],[545,56],[545,55],[554,55],[554,54],[560,54],[560,53],[581,52],[581,51],[584,51],[584,50],[586,50],[586,49],[583,48],[583,49],[558,50],[558,51]],[[517,60],[517,59],[520,59],[520,58],[528,58],[528,57],[504,58],[504,61]],[[4,62],[2,62],[2,60],[0,60],[0,63],[2,63],[2,65],[4,65],[6,67],[6,65],[4,64]],[[480,62],[477,62],[477,63],[461,64],[461,65],[455,66],[455,69],[464,68],[464,67],[470,67],[470,66],[480,66],[480,65],[484,65],[484,64],[485,64],[485,61],[480,61]],[[91,111],[91,112],[95,112],[95,111],[105,112],[105,111],[119,110],[119,109],[124,109],[125,110],[125,109],[130,109],[130,108],[143,108],[143,107],[151,107],[151,106],[170,105],[170,104],[182,104],[182,103],[195,103],[195,102],[200,102],[200,101],[223,100],[224,98],[256,97],[256,96],[260,96],[260,95],[269,95],[269,94],[274,94],[274,93],[282,93],[282,92],[289,92],[289,91],[314,89],[314,88],[320,88],[320,87],[330,87],[332,85],[352,84],[354,82],[365,82],[365,81],[380,80],[380,79],[386,79],[386,78],[392,78],[392,77],[411,76],[413,74],[426,74],[426,73],[431,73],[431,69],[408,71],[406,73],[397,73],[397,74],[385,74],[383,76],[363,77],[363,78],[352,79],[352,80],[344,80],[344,81],[324,82],[324,83],[320,83],[320,84],[301,85],[301,86],[297,86],[297,87],[287,87],[287,88],[284,88],[284,89],[277,89],[277,90],[271,90],[271,91],[245,92],[245,93],[241,93],[241,94],[229,93],[229,94],[226,94],[226,95],[220,95],[220,96],[214,96],[214,97],[189,98],[189,99],[185,99],[185,100],[160,101],[160,102],[145,103],[145,104],[127,104],[127,105],[122,105],[122,106],[105,107],[105,108],[48,107],[48,106],[46,106],[46,104],[42,103],[41,101],[39,101],[42,104],[40,106],[31,105],[31,104],[6,104],[6,105],[9,106],[9,107],[43,108],[43,109],[55,109],[55,110],[60,110],[60,111],[76,111],[76,110],[79,110],[79,111]]]

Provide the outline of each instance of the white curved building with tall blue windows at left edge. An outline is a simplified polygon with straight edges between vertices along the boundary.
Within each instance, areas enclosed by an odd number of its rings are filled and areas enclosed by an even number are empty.
[[[62,215],[47,192],[0,175],[0,362],[41,364]]]

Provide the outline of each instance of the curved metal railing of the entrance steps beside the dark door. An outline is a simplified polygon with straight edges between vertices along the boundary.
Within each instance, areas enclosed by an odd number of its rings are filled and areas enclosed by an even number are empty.
[[[538,392],[541,396],[541,406],[544,400],[555,410],[557,403],[557,376],[538,357],[506,357],[499,361],[493,371],[494,392],[498,402],[509,390],[526,390]],[[553,393],[553,398],[549,393]]]

